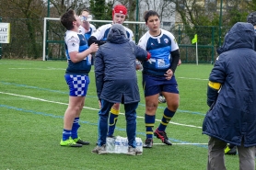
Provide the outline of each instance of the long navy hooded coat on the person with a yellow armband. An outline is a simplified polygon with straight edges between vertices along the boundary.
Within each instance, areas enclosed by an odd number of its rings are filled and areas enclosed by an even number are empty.
[[[215,105],[206,113],[203,133],[221,141],[244,146],[256,145],[256,52],[254,28],[237,23],[219,49],[209,81],[220,83]],[[215,92],[217,93],[217,92]]]

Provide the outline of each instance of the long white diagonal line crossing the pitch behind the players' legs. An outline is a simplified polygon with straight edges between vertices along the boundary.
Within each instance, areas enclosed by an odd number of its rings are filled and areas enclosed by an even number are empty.
[[[6,93],[6,92],[0,92],[0,94],[9,95],[9,96],[26,97],[26,98],[30,98],[30,99],[33,99],[33,100],[39,100],[39,101],[43,101],[43,102],[55,103],[55,104],[60,104],[60,105],[68,105],[67,103],[62,103],[62,102],[57,102],[57,101],[46,100],[46,99],[37,98],[37,97],[33,97],[33,96],[23,96],[23,95],[17,95],[17,94]],[[84,107],[84,108],[99,111],[99,108],[88,108],[88,107]],[[124,113],[120,113],[120,114],[124,115]],[[139,118],[139,119],[144,119],[144,117],[140,117],[140,116],[137,116],[137,118]],[[161,120],[160,120],[160,119],[156,119],[156,121],[161,121]],[[170,124],[174,124],[174,125],[184,126],[184,127],[202,129],[202,127],[198,127],[198,126],[194,126],[194,125],[186,125],[186,124],[176,123],[176,122],[173,122],[173,121],[170,121],[169,123],[170,123]]]

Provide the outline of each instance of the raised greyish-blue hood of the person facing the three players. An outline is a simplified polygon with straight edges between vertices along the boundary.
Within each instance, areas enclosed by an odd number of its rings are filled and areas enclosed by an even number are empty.
[[[121,24],[113,24],[108,34],[107,41],[115,44],[128,42],[126,30]]]

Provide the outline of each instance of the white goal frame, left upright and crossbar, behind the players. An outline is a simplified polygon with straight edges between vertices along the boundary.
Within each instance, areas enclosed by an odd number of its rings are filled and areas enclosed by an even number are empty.
[[[42,61],[46,61],[46,35],[47,35],[47,20],[55,20],[60,21],[60,18],[56,17],[44,17],[43,19],[43,44],[42,44]],[[111,23],[112,20],[91,20],[90,22],[100,22],[100,23]],[[124,21],[123,24],[144,24],[145,22],[138,22],[138,21]]]

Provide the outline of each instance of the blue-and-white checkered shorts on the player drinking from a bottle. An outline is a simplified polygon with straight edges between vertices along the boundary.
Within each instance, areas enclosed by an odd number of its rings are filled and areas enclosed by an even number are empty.
[[[64,78],[69,87],[69,96],[87,96],[89,85],[87,75],[65,74]]]

